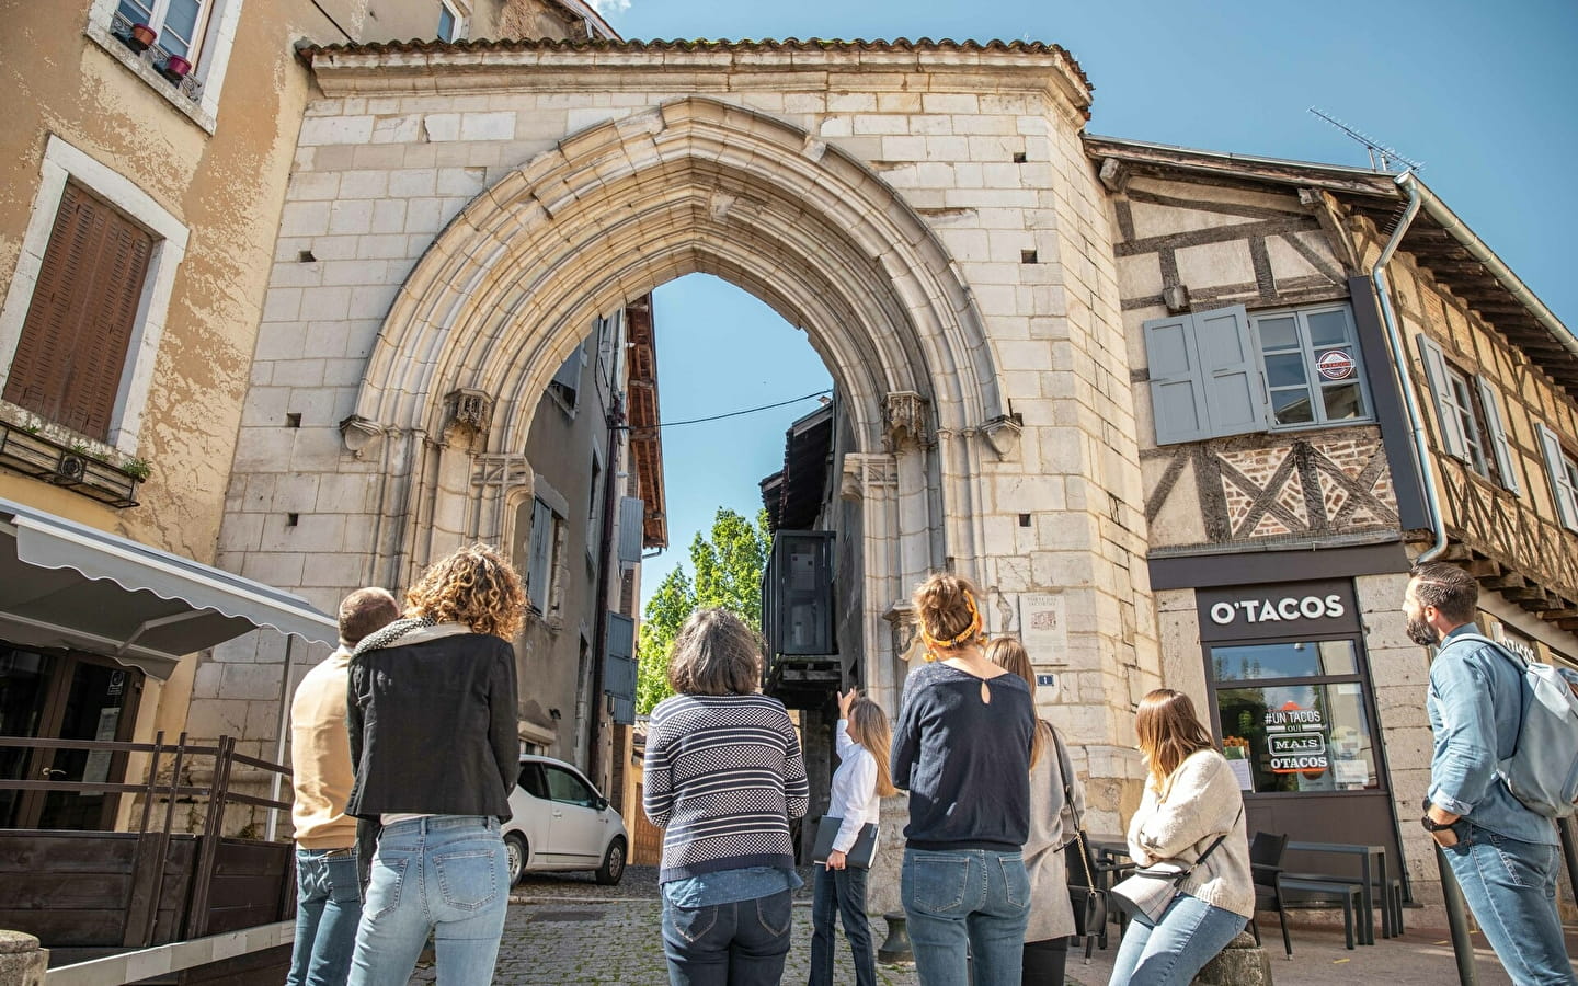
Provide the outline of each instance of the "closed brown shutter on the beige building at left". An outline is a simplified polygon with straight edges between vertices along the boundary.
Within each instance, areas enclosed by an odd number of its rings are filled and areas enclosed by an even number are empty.
[[[5,399],[107,439],[151,256],[153,237],[68,181]]]

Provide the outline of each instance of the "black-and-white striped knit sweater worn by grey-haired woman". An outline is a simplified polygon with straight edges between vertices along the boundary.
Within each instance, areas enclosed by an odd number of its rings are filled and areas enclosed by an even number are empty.
[[[746,866],[794,868],[789,819],[810,786],[800,737],[765,696],[674,696],[652,710],[642,806],[663,833],[660,883]]]

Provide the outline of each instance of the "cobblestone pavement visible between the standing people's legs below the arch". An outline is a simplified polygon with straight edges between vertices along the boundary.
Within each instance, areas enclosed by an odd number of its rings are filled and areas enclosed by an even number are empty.
[[[810,876],[803,872],[802,876]],[[873,934],[882,942],[885,926]],[[424,964],[428,958],[424,956]],[[811,962],[810,880],[794,907],[794,943],[783,981],[805,983]],[[434,983],[436,970],[418,967],[412,983]],[[835,983],[854,983],[849,943],[838,939]],[[912,986],[914,967],[877,965],[884,986]],[[656,871],[631,868],[619,887],[598,887],[578,876],[529,876],[510,894],[510,917],[494,983],[535,986],[559,983],[606,983],[609,986],[661,986],[667,983],[663,959],[661,904]]]

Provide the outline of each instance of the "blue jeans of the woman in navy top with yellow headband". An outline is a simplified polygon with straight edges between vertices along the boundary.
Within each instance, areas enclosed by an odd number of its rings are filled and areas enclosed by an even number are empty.
[[[1030,920],[1024,853],[906,849],[899,894],[922,986],[1019,986]]]

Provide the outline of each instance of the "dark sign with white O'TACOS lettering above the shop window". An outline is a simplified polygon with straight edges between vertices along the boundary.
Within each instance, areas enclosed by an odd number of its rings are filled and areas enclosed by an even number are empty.
[[[1199,590],[1195,598],[1202,641],[1310,637],[1359,629],[1352,584],[1340,579]]]

